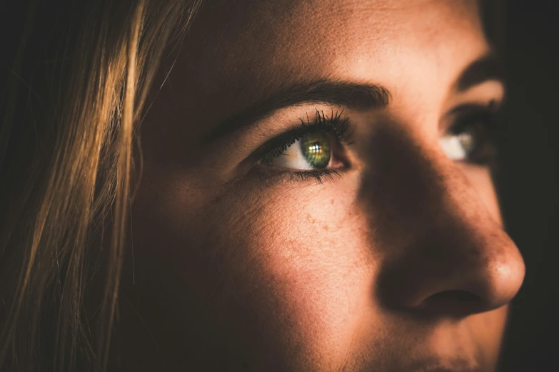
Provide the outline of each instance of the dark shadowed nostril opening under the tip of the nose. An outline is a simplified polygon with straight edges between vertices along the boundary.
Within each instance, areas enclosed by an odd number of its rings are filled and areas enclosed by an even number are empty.
[[[470,291],[440,291],[423,300],[420,309],[428,313],[462,316],[484,310],[483,300]]]

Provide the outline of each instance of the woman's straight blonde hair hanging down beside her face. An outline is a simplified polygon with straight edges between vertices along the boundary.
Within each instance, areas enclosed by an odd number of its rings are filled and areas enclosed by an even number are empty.
[[[136,123],[166,46],[178,45],[200,2],[69,2],[48,17],[29,1],[0,105],[2,371],[106,368]],[[101,258],[91,331],[84,293]]]

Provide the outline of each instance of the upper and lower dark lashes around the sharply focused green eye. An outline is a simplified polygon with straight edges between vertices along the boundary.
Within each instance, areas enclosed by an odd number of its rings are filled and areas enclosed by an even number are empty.
[[[306,135],[313,133],[328,133],[333,136],[336,140],[336,145],[343,148],[344,146],[351,145],[353,143],[351,126],[349,123],[349,118],[342,118],[343,110],[334,112],[331,111],[331,115],[328,116],[324,111],[316,110],[315,118],[312,120],[308,118],[299,118],[301,121],[301,126],[296,130],[280,135],[278,138],[264,145],[262,153],[264,154],[260,162],[263,165],[270,164],[274,159],[280,157],[287,148],[298,140],[305,138]],[[276,175],[289,175],[290,181],[296,180],[316,180],[316,182],[322,184],[324,181],[334,180],[335,177],[341,175],[340,170],[333,169],[321,169],[321,170],[281,170],[281,169],[269,169]]]

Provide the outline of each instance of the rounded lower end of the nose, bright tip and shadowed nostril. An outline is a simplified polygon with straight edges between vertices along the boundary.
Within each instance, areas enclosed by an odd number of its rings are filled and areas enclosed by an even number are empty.
[[[508,304],[523,283],[523,258],[500,227],[481,230],[448,229],[405,249],[381,272],[384,299],[391,306],[454,316]]]

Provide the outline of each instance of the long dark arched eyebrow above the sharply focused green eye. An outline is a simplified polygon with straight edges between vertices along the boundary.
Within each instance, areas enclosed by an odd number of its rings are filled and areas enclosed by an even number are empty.
[[[282,108],[303,104],[339,105],[346,108],[367,110],[384,108],[391,100],[388,89],[375,84],[359,84],[322,79],[311,83],[298,83],[273,93],[269,98],[224,120],[203,138],[210,143],[243,127],[252,125]]]

